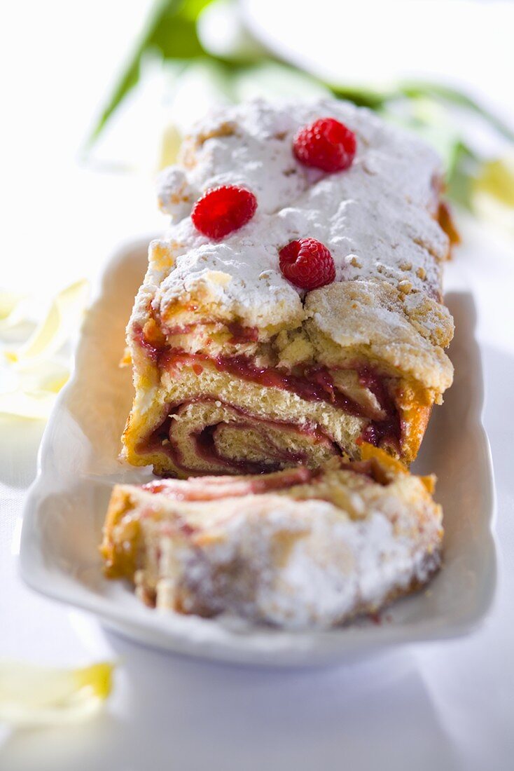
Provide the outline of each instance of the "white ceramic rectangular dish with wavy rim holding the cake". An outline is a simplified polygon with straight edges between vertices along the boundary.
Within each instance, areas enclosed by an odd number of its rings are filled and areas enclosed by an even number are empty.
[[[321,665],[389,645],[457,637],[484,618],[496,584],[494,494],[489,443],[481,423],[482,368],[472,298],[459,264],[450,268],[448,305],[457,332],[450,349],[455,383],[435,409],[416,470],[438,476],[445,512],[445,564],[429,591],[392,605],[377,625],[365,619],[327,632],[288,633],[220,619],[160,614],[121,582],[102,577],[98,544],[114,482],[148,470],[117,459],[132,385],[119,369],[124,328],[146,269],[146,246],[132,244],[109,264],[82,329],[75,372],[45,431],[39,473],[25,504],[20,564],[30,587],[92,611],[149,645],[227,662]]]

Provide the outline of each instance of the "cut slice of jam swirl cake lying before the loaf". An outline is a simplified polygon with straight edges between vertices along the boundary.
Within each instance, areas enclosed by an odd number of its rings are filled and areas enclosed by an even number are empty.
[[[297,629],[374,613],[437,571],[442,510],[432,478],[368,445],[364,454],[317,472],[117,485],[106,575],[161,611]]]

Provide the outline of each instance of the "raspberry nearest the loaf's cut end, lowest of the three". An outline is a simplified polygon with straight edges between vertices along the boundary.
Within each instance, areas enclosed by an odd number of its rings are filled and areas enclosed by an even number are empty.
[[[290,241],[278,256],[284,277],[301,289],[310,291],[334,281],[334,258],[328,248],[314,238]]]

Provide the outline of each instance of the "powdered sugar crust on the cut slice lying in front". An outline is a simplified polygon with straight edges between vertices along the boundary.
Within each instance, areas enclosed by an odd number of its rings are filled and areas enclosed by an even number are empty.
[[[437,507],[422,500],[407,504],[387,492],[372,500],[373,494],[361,499],[366,513],[358,520],[328,501],[287,494],[227,499],[223,507],[200,504],[186,521],[214,537],[207,535],[201,554],[194,543],[174,548],[171,567],[161,563],[161,575],[180,564],[180,581],[196,587],[200,604],[216,611],[290,629],[328,628],[355,611],[380,608],[413,579],[425,583],[438,565]],[[277,543],[284,537],[290,546],[281,552]],[[160,539],[163,553],[166,542]],[[243,564],[251,588],[213,583],[219,571]]]

